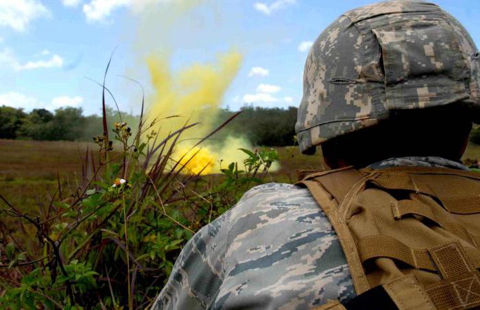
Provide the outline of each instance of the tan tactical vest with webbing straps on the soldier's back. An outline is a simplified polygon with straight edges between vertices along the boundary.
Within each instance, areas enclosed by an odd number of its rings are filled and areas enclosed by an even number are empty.
[[[317,309],[480,307],[480,174],[347,167],[298,184],[335,228],[357,293]]]

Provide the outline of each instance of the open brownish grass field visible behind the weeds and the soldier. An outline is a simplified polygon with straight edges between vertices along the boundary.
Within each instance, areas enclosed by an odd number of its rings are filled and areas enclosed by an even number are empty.
[[[82,158],[98,145],[64,141],[14,141],[0,139],[0,193],[18,206],[49,201],[58,187],[75,189],[82,174]],[[299,169],[322,169],[317,156],[299,154],[296,147],[278,147],[280,170],[270,176],[274,182],[295,182]],[[480,158],[480,146],[470,144],[464,158]]]

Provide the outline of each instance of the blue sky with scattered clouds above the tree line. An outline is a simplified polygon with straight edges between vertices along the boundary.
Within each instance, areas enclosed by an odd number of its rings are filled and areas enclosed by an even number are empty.
[[[200,4],[173,13],[178,2]],[[99,113],[101,88],[87,78],[101,81],[117,47],[107,86],[125,111],[139,111],[141,91],[119,75],[139,80],[149,93],[143,59],[157,51],[169,53],[171,67],[178,70],[193,62],[215,62],[219,53],[235,49],[243,63],[224,106],[236,110],[245,101],[298,106],[309,44],[340,14],[371,2],[0,0],[0,105],[25,110],[77,106],[86,115]],[[480,1],[435,3],[480,43]]]

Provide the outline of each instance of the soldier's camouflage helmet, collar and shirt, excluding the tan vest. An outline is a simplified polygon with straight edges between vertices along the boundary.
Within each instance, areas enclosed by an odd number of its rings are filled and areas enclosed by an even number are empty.
[[[307,58],[300,151],[396,110],[458,104],[477,111],[479,55],[459,22],[431,3],[387,1],[346,12]],[[478,121],[480,114],[471,114]],[[390,158],[372,168],[403,165],[466,169],[437,157]],[[272,183],[245,193],[187,243],[154,308],[308,309],[354,296],[321,206],[307,189]]]

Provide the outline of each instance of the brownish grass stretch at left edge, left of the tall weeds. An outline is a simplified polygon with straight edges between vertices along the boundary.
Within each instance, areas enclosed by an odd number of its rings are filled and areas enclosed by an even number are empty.
[[[0,193],[23,210],[48,204],[58,188],[75,189],[82,160],[93,143],[0,139]],[[96,150],[94,148],[93,150]]]

